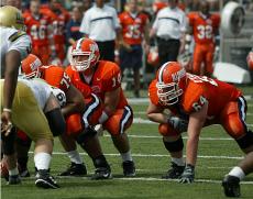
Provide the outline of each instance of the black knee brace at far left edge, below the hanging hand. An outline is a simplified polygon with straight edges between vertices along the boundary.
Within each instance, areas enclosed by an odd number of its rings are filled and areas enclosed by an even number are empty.
[[[16,139],[16,129],[12,128],[8,136],[1,136],[2,139],[2,152],[4,155],[12,155],[15,152],[14,144]]]

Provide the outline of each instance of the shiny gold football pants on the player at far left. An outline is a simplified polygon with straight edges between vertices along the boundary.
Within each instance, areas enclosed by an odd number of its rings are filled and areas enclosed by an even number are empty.
[[[3,80],[0,81],[1,91],[1,112],[3,109]],[[32,89],[23,82],[16,85],[15,95],[12,103],[11,121],[13,125],[25,132],[30,139],[53,140],[45,114],[40,108]]]

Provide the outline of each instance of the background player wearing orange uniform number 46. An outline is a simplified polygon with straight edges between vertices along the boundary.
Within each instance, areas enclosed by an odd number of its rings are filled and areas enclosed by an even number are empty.
[[[44,65],[47,65],[51,55],[51,19],[40,12],[40,0],[30,1],[30,10],[24,12],[23,18],[26,33],[32,38],[32,53],[38,56]]]

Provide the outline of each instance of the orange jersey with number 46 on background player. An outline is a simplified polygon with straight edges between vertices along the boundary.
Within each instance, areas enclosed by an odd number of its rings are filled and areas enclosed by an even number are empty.
[[[31,12],[25,12],[23,18],[26,25],[26,33],[32,38],[32,48],[34,46],[47,46],[50,43],[48,25],[51,24],[51,19],[44,14],[34,18]]]

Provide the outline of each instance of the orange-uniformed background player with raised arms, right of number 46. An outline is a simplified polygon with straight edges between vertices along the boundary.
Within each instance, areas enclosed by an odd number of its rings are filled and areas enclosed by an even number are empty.
[[[65,49],[65,26],[70,19],[70,14],[58,3],[58,0],[51,0],[48,5],[43,5],[41,12],[52,20],[52,32],[54,45],[51,46],[55,51],[56,57],[62,63],[66,56]]]

